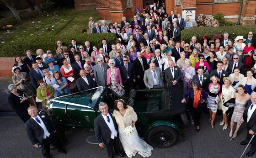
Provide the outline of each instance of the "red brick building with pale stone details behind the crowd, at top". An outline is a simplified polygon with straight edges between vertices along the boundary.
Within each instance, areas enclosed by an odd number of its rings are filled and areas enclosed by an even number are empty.
[[[96,8],[100,20],[122,21],[122,17],[132,18],[135,8],[142,9],[145,3],[153,4],[154,0],[74,0],[76,9]],[[157,1],[157,0],[155,0]],[[164,0],[166,12],[181,13],[183,18],[190,17],[195,21],[197,15],[203,13],[215,16],[222,13],[228,21],[241,25],[255,23],[256,0]]]

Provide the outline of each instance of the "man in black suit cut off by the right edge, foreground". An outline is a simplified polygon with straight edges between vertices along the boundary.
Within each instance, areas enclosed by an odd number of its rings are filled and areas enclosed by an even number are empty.
[[[243,117],[241,121],[246,121],[246,138],[245,141],[241,142],[241,145],[246,145],[250,142],[252,135],[256,133],[256,93],[251,93],[251,100],[248,102],[248,105],[245,108]],[[251,148],[250,151],[246,154],[246,156],[252,156],[256,151],[256,138],[254,137],[251,140]]]

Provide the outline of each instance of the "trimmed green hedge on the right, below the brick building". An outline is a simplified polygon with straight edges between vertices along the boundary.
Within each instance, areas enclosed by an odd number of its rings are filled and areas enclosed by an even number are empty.
[[[197,27],[192,29],[185,29],[181,32],[181,39],[184,39],[186,43],[191,41],[193,36],[197,37],[197,42],[200,42],[203,36],[212,38],[214,34],[221,34],[223,37],[224,32],[229,33],[229,38],[235,39],[237,36],[247,37],[248,32],[256,33],[255,25],[247,26],[220,26],[220,27]]]

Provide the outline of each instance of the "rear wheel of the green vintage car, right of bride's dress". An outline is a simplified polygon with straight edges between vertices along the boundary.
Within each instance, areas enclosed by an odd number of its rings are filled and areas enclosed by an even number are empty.
[[[167,148],[173,146],[178,138],[176,130],[170,126],[156,126],[147,135],[147,142],[153,147]]]

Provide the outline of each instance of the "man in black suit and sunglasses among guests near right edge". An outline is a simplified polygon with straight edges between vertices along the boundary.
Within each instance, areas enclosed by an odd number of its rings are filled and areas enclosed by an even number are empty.
[[[239,56],[236,54],[233,55],[233,61],[229,62],[229,66],[227,68],[228,74],[233,74],[235,67],[240,69],[240,74],[245,74],[245,66],[241,61],[239,61]]]

